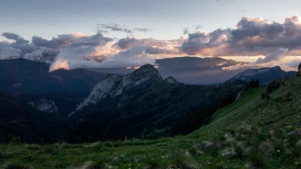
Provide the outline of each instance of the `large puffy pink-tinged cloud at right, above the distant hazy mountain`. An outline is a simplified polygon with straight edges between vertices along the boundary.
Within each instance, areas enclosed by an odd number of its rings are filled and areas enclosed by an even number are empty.
[[[180,50],[188,55],[257,56],[278,48],[287,48],[292,55],[301,55],[301,24],[298,16],[283,23],[262,18],[243,17],[235,29],[217,29],[188,34]]]

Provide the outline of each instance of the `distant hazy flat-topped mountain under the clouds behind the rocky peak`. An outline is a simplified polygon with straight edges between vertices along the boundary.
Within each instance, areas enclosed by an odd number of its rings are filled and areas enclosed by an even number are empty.
[[[218,84],[223,83],[245,69],[222,70],[223,67],[245,64],[231,59],[220,57],[173,57],[157,59],[155,64],[163,78],[174,77],[180,83],[185,84]],[[246,68],[247,69],[247,68]],[[134,68],[94,68],[93,71],[126,75]]]

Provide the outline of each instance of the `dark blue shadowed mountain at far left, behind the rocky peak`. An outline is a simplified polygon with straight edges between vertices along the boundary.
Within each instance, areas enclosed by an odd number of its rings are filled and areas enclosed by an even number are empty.
[[[49,64],[27,59],[0,60],[0,91],[19,95],[27,102],[52,100],[60,115],[67,116],[93,86],[107,76],[86,69],[49,72]]]

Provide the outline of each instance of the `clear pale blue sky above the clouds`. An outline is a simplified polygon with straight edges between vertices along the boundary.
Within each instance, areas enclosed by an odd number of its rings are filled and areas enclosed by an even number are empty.
[[[300,0],[1,0],[0,32],[50,39],[74,32],[92,35],[97,24],[118,23],[152,29],[136,36],[172,40],[183,36],[185,27],[232,28],[243,16],[281,22],[298,14],[300,6]]]

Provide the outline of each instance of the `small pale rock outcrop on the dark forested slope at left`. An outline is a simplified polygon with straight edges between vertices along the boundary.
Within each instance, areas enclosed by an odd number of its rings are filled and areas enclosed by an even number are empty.
[[[41,112],[48,112],[48,113],[56,113],[57,107],[55,106],[54,101],[47,100],[47,99],[40,99],[37,101],[29,102],[29,105],[36,108]]]

